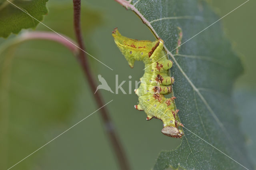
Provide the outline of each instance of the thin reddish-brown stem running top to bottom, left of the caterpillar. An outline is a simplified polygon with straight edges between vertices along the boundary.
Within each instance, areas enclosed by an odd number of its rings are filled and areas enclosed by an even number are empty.
[[[82,34],[81,34],[81,28],[80,28],[80,7],[81,7],[81,1],[80,0],[73,0],[74,5],[74,29],[76,33],[76,38],[78,41],[78,45],[81,49],[86,51],[84,47],[84,42],[82,40]],[[92,92],[96,91],[96,83],[94,81],[94,77],[91,74],[90,65],[88,64],[87,55],[84,53],[84,51],[79,50],[78,59],[80,61],[80,64],[82,66],[82,69],[84,71],[84,74],[86,75],[86,78],[88,79],[90,88]],[[94,95],[94,99],[98,106],[104,105],[103,99],[100,95],[100,93],[97,91]],[[108,134],[108,137],[110,139],[110,142],[112,144],[112,147],[114,148],[116,157],[118,158],[118,162],[120,165],[120,168],[122,170],[129,170],[128,161],[126,158],[126,155],[124,154],[124,149],[122,148],[122,145],[120,144],[120,141],[118,140],[118,137],[115,132],[115,128],[113,127],[112,121],[108,115],[108,111],[106,107],[102,108],[101,110],[101,117],[104,121],[104,125]]]

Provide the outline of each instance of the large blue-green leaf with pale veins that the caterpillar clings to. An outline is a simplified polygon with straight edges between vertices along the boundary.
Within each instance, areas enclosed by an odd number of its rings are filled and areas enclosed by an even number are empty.
[[[237,162],[252,168],[231,100],[233,83],[243,69],[220,22],[204,30],[219,19],[212,8],[203,0],[117,1],[164,40],[174,61],[173,90],[185,135],[178,148],[160,152],[154,169],[244,169]]]

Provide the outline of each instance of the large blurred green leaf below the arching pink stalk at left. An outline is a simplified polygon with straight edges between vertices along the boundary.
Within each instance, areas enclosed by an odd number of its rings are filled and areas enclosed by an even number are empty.
[[[69,12],[72,16],[72,11]],[[87,12],[84,17],[87,16],[92,14]],[[86,24],[91,30],[95,29],[96,24],[90,22],[94,21],[88,20]],[[69,34],[74,31],[72,27],[70,24]],[[86,89],[83,95],[88,95],[84,75],[68,49],[42,40],[5,48],[7,41],[12,39],[8,38],[0,46],[0,169],[10,168],[74,125],[73,121],[70,124],[70,119],[74,116],[81,89]],[[88,105],[83,111],[78,111],[82,115],[75,123],[95,110],[93,101]],[[98,129],[102,130],[102,127]],[[103,141],[102,138],[100,141]],[[40,160],[44,158],[42,152],[36,152],[15,168],[43,166],[40,165]]]

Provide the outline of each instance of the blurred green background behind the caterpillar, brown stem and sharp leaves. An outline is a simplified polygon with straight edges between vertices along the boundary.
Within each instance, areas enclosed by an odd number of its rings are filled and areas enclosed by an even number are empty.
[[[219,16],[224,16],[244,1],[214,0],[209,3]],[[221,20],[224,32],[240,54],[244,74],[234,88],[234,102],[241,118],[248,153],[256,162],[256,23],[255,1],[249,1]],[[71,0],[51,0],[48,15],[42,21],[55,30],[74,38],[73,6]],[[82,31],[88,53],[114,69],[111,71],[92,57],[88,57],[96,81],[101,74],[114,91],[115,75],[126,93],[128,81],[142,77],[142,62],[128,66],[114,44],[111,32],[118,27],[122,35],[138,40],[155,38],[140,18],[125,10],[114,0],[82,0]],[[42,24],[36,30],[50,31]],[[30,30],[32,31],[32,30]],[[207,31],[207,30],[206,30]],[[8,39],[14,38],[11,35]],[[0,43],[6,40],[0,38]],[[6,57],[8,56],[8,57]],[[128,76],[132,76],[131,79]],[[168,138],[160,132],[162,122],[146,121],[146,114],[134,109],[138,97],[118,95],[100,90],[116,131],[136,170],[153,167],[161,150],[171,150],[179,139]],[[0,55],[0,169],[6,169],[52,140],[64,130],[96,111],[93,93],[68,49],[54,42],[33,40],[25,42]],[[118,169],[115,155],[104,132],[99,111],[68,130],[56,140],[22,161],[12,169]],[[159,144],[160,143],[160,144]]]

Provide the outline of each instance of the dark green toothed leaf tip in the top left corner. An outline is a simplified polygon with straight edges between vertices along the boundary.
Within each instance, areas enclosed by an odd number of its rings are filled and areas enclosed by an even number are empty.
[[[18,34],[23,28],[35,28],[39,23],[37,20],[42,21],[43,15],[48,12],[46,8],[48,0],[9,1],[0,0],[0,37],[6,38],[11,33]]]

